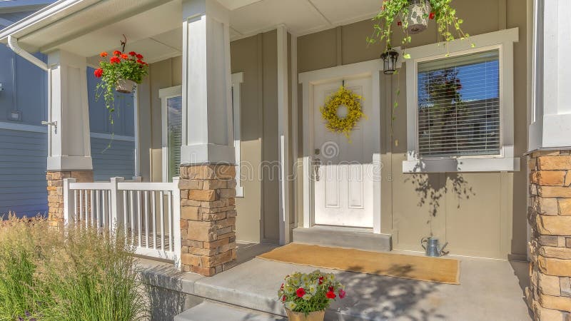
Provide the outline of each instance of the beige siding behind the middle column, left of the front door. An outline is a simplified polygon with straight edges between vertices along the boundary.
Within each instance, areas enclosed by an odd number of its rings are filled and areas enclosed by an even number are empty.
[[[276,30],[231,42],[232,73],[241,83],[241,161],[248,164],[243,198],[236,198],[236,238],[277,243],[278,75]],[[162,180],[161,99],[158,90],[181,85],[181,57],[151,63],[149,77],[138,86],[139,144],[143,180]],[[272,173],[262,175],[262,162]],[[273,176],[273,178],[272,178]]]

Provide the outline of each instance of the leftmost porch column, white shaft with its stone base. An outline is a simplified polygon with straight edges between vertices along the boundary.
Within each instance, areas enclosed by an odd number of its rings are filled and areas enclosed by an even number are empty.
[[[48,219],[64,225],[64,179],[92,182],[86,58],[66,51],[48,55]]]

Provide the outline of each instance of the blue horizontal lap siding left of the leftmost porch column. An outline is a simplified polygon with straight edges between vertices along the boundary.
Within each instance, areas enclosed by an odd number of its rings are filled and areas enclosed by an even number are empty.
[[[0,129],[0,215],[46,215],[46,133]]]

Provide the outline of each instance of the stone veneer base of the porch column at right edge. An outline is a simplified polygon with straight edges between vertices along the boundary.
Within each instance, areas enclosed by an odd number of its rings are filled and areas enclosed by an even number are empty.
[[[571,320],[571,154],[530,155],[530,287],[535,320]]]

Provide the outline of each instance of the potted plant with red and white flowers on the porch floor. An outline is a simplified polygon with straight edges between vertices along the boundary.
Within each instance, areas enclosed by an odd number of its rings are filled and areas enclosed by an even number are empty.
[[[290,321],[323,321],[331,301],[345,297],[343,285],[333,273],[315,270],[288,275],[278,290],[278,298]]]

